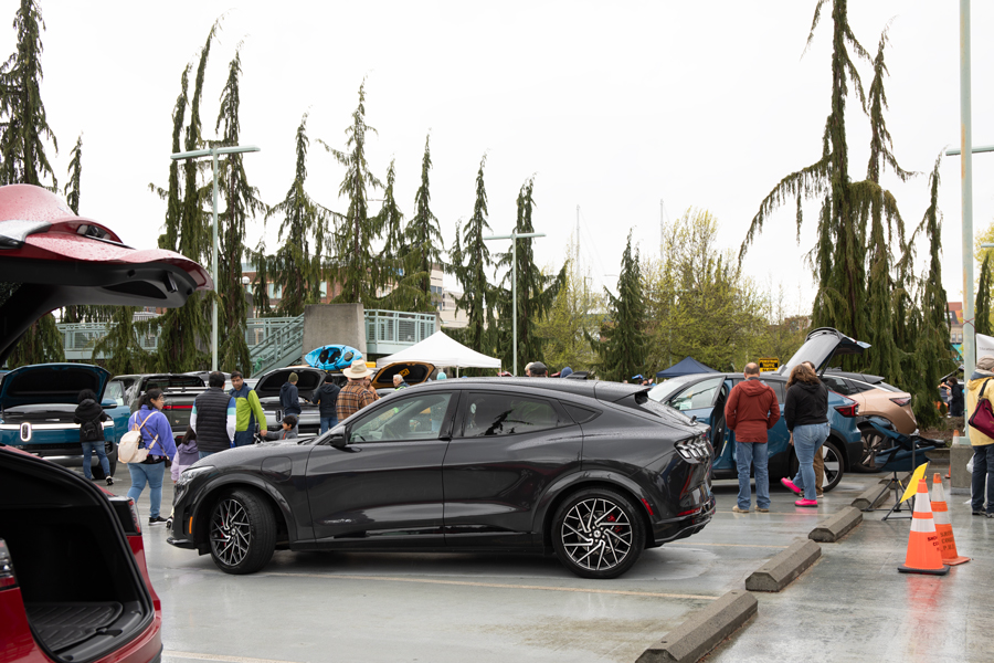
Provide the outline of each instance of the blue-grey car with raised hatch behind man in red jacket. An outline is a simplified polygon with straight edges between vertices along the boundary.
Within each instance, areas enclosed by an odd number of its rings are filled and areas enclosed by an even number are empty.
[[[821,370],[834,356],[857,354],[867,348],[835,329],[815,329],[780,372],[762,375],[762,381],[776,392],[776,401],[783,408],[790,370],[802,361],[811,361]],[[739,475],[734,457],[734,433],[725,425],[725,403],[732,388],[743,380],[742,373],[696,373],[666,380],[654,387],[648,397],[696,417],[711,425],[711,444],[715,450],[712,471],[716,478],[736,478]],[[825,461],[823,488],[831,491],[838,485],[845,471],[863,459],[863,436],[856,423],[858,403],[849,398],[828,392],[828,440],[822,446]],[[780,421],[769,432],[770,477],[792,477],[797,472],[797,456],[790,444],[786,421]]]

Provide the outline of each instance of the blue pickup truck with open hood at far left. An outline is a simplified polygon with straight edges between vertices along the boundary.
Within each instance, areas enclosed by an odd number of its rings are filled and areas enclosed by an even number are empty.
[[[73,421],[77,397],[83,389],[91,389],[99,401],[109,378],[106,369],[85,364],[39,364],[11,371],[0,382],[0,444],[67,467],[82,467],[80,424]],[[105,451],[114,476],[120,439],[116,430],[127,427],[128,413],[115,412],[116,402],[109,399],[101,404],[114,417],[103,423]],[[104,478],[95,453],[89,463],[93,476]]]

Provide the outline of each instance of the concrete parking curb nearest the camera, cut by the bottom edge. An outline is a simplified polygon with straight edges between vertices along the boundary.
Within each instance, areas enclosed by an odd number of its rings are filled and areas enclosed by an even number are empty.
[[[748,591],[732,590],[691,614],[645,650],[636,663],[694,663],[749,621],[758,606]]]

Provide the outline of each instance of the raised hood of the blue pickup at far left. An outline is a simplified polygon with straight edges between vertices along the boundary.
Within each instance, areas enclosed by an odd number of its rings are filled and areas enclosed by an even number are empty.
[[[3,376],[0,408],[49,403],[74,406],[84,389],[93,390],[99,402],[109,379],[106,369],[86,364],[23,366]]]

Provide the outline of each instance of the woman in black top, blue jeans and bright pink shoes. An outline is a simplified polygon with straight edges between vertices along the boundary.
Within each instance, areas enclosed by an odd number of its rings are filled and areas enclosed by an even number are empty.
[[[828,439],[828,389],[805,364],[799,364],[791,371],[783,418],[794,440],[800,467],[793,481],[781,478],[780,483],[801,496],[794,502],[795,506],[816,508],[814,455]]]

